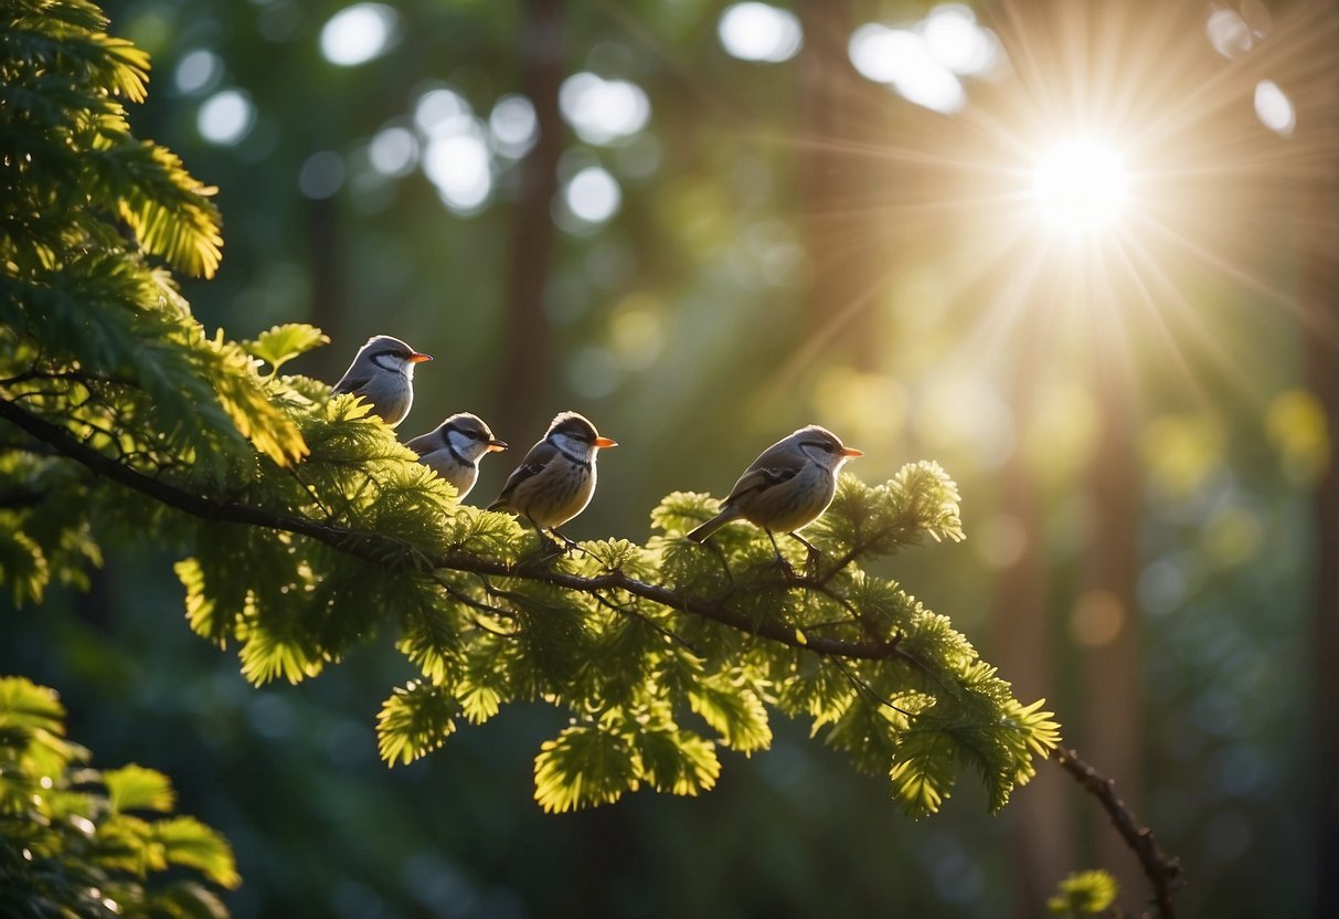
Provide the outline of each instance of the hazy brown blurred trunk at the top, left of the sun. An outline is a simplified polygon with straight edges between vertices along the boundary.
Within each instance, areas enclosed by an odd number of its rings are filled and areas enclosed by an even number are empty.
[[[854,153],[870,117],[857,104],[868,87],[846,54],[854,28],[852,4],[799,0],[795,11],[805,32],[799,52],[799,169],[802,232],[810,263],[797,330],[801,340],[817,335],[830,342],[840,336],[852,363],[872,370],[882,356],[868,334],[873,291],[866,212],[873,170],[866,154]],[[892,96],[888,103],[896,104]]]

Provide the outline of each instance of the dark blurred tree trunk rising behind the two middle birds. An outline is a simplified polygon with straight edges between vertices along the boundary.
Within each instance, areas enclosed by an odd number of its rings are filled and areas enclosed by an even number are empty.
[[[544,292],[553,264],[550,206],[558,190],[562,118],[558,87],[566,63],[562,0],[525,0],[520,27],[521,92],[534,103],[538,142],[521,161],[521,188],[513,209],[511,281],[502,322],[497,405],[489,415],[499,431],[525,431],[553,410],[553,347]]]

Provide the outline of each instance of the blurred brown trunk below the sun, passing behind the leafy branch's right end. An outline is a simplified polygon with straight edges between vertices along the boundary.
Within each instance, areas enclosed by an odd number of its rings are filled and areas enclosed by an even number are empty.
[[[1010,393],[1020,439],[1032,426],[1036,407],[1036,368],[1046,352],[1042,331],[1030,327],[1018,348]],[[995,577],[991,608],[991,660],[1026,702],[1054,698],[1050,579],[1043,539],[1044,508],[1036,473],[1026,450],[1010,455],[1003,473],[999,513],[1023,532],[1023,551]],[[1063,721],[1063,718],[1062,718]],[[1056,881],[1073,869],[1074,833],[1070,820],[1069,780],[1058,769],[1039,769],[1036,777],[1014,793],[1006,812],[1012,864],[1010,879],[1014,915],[1036,914]]]

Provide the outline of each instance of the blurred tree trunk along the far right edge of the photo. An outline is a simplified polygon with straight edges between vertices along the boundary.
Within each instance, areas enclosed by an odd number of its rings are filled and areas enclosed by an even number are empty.
[[[1319,5],[1319,4],[1318,4]],[[1319,28],[1339,33],[1339,4],[1320,5]],[[1320,174],[1306,186],[1302,221],[1302,322],[1307,387],[1324,409],[1330,462],[1316,485],[1315,596],[1311,630],[1311,735],[1316,770],[1315,915],[1339,915],[1339,58],[1324,55],[1299,87],[1295,143],[1315,151]]]

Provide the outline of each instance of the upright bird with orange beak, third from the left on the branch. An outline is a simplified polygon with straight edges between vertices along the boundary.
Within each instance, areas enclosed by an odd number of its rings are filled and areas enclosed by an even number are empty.
[[[510,510],[530,521],[540,539],[548,531],[566,543],[557,532],[590,504],[595,494],[595,461],[600,450],[619,446],[600,437],[595,425],[574,411],[554,417],[544,439],[530,447],[521,465],[502,486],[489,510]]]

